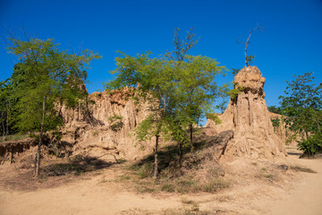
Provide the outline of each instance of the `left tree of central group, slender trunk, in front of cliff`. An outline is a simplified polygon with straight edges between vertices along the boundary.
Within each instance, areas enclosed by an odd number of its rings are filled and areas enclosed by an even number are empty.
[[[150,58],[149,54],[116,57],[117,73],[114,81],[106,83],[106,89],[131,87],[135,99],[149,104],[150,115],[135,129],[140,141],[156,138],[154,147],[154,177],[157,178],[157,150],[160,135],[166,135],[168,118],[174,110],[174,73],[171,61]]]

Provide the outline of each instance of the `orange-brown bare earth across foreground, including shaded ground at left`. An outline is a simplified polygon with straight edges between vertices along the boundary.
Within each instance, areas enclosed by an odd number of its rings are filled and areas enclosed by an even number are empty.
[[[290,168],[236,159],[225,166],[228,188],[185,194],[138,193],[131,181],[119,180],[126,164],[43,179],[16,175],[17,165],[4,165],[0,214],[322,214],[322,160],[289,156],[283,164]]]

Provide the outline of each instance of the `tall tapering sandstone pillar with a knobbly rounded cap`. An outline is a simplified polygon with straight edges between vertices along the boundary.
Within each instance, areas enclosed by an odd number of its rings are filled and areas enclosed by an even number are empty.
[[[233,130],[233,140],[225,154],[251,159],[274,159],[285,154],[284,144],[274,133],[263,90],[265,78],[258,67],[244,67],[234,78],[234,87],[242,92],[230,103],[222,116],[222,124],[208,120],[206,127],[217,133]]]

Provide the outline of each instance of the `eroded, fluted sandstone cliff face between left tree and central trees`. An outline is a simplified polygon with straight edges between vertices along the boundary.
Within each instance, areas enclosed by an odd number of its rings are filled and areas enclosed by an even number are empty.
[[[92,156],[113,154],[117,158],[136,159],[146,154],[135,145],[130,135],[133,128],[148,116],[148,106],[138,105],[130,98],[131,90],[114,90],[110,93],[94,92],[87,104],[76,109],[61,108],[65,123],[66,142],[75,142],[74,150]],[[114,159],[106,156],[106,159]]]

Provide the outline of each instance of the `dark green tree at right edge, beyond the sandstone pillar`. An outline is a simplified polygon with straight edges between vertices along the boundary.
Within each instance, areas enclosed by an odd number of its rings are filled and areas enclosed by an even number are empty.
[[[322,150],[322,83],[312,83],[311,73],[296,76],[281,96],[284,121],[291,131],[301,135],[299,147],[308,155]]]

